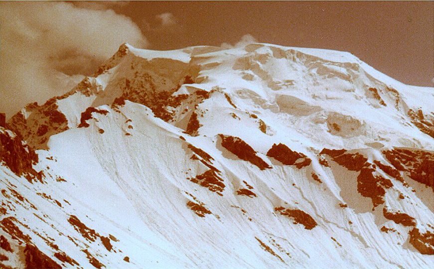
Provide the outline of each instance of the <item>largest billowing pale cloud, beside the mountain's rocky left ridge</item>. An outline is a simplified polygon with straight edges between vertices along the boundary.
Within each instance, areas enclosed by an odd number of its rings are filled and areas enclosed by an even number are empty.
[[[1,2],[0,37],[0,110],[8,117],[63,94],[80,77],[72,75],[93,73],[122,43],[147,46],[129,17],[65,2]]]

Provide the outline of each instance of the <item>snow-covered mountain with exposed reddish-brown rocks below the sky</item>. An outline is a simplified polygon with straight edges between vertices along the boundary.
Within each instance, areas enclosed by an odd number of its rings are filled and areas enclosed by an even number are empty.
[[[432,268],[433,104],[346,52],[123,44],[0,128],[1,268]]]

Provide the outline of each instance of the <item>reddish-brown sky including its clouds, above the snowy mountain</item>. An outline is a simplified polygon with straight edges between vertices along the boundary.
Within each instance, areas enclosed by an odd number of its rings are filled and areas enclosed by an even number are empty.
[[[7,117],[71,89],[123,42],[334,49],[406,84],[433,86],[434,78],[433,1],[0,2],[0,35]]]

